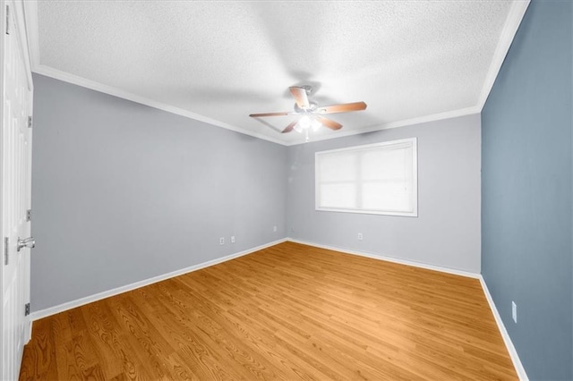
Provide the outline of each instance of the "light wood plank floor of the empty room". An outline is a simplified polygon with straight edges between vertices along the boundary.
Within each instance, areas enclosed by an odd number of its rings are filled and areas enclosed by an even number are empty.
[[[293,242],[34,322],[21,379],[517,379],[476,279]]]

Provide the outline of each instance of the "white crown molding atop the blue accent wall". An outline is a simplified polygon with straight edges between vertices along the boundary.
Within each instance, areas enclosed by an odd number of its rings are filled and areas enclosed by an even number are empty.
[[[501,65],[505,60],[506,55],[508,55],[509,47],[513,42],[513,38],[516,37],[517,29],[526,14],[527,7],[529,6],[530,0],[516,0],[511,4],[511,9],[509,9],[508,18],[505,21],[503,30],[501,30],[500,41],[498,41],[498,46],[493,53],[492,63],[490,63],[490,69],[483,82],[482,93],[477,102],[477,108],[481,113],[487,97],[490,96],[490,91],[492,91],[493,83],[495,83],[498,74],[500,73]]]

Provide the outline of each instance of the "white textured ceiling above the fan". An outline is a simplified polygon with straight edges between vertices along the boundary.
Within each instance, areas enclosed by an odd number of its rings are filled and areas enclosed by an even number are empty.
[[[248,114],[292,111],[294,85],[319,106],[368,104],[312,140],[479,112],[514,3],[39,1],[27,14],[35,72],[293,144],[303,136],[278,132],[292,116]]]

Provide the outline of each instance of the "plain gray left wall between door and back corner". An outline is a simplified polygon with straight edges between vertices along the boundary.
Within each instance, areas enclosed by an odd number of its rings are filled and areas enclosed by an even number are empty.
[[[34,84],[32,310],[285,237],[286,147]]]

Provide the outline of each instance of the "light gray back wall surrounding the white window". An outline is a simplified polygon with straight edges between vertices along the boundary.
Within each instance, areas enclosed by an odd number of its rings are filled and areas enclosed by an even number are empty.
[[[314,153],[418,139],[418,217],[314,210]],[[480,273],[480,116],[469,115],[289,147],[292,238]],[[363,241],[357,240],[363,233]]]

